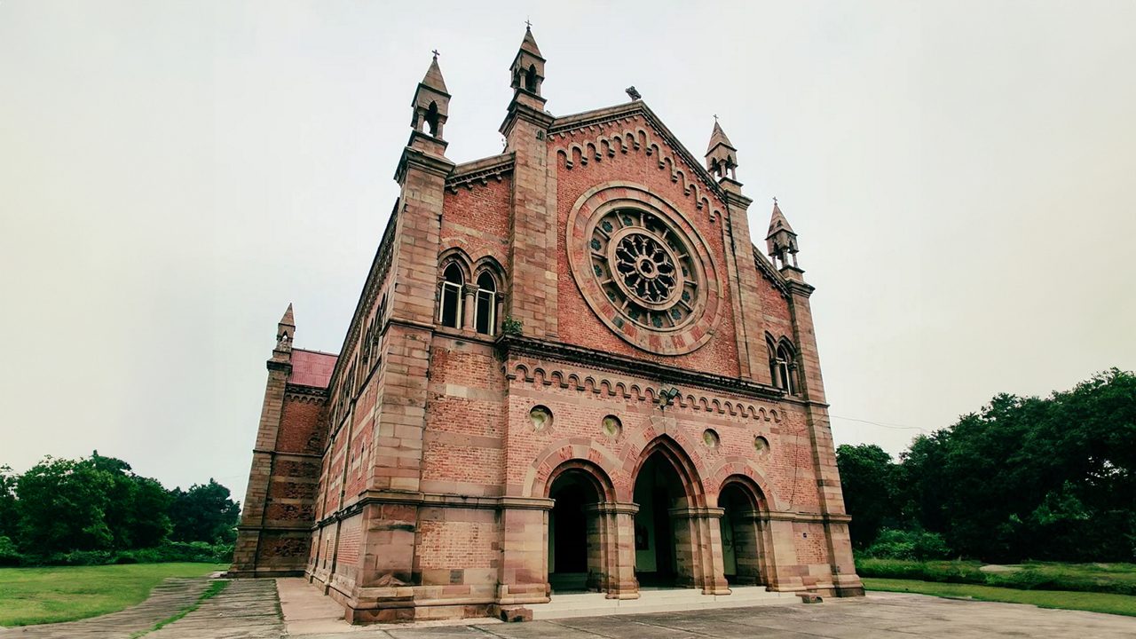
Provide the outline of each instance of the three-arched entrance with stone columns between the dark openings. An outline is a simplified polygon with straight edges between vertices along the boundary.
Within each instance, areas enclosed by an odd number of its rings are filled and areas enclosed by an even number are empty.
[[[776,586],[765,492],[744,468],[724,471],[708,493],[669,435],[642,449],[629,495],[596,462],[560,462],[534,486],[554,503],[545,563],[552,594],[627,598],[641,587],[726,594],[730,586]]]

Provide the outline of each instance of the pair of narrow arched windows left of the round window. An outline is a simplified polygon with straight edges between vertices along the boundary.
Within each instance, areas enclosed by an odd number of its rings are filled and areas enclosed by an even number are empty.
[[[440,325],[484,335],[499,332],[502,271],[492,258],[471,265],[465,254],[450,251],[441,263],[437,283]]]

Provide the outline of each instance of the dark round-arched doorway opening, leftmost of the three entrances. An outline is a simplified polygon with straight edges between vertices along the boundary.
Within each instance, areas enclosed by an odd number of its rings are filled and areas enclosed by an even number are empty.
[[[604,491],[580,467],[560,472],[549,488],[556,501],[549,513],[549,584],[556,592],[594,590],[602,576],[601,522],[595,505]]]

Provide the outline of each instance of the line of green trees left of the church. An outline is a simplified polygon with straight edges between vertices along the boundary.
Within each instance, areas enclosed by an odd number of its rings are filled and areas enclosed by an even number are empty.
[[[212,479],[167,490],[94,451],[0,467],[0,564],[228,562],[240,505]]]

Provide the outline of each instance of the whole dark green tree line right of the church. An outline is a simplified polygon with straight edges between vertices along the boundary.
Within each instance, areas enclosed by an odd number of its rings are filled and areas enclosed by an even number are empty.
[[[1050,397],[997,395],[917,437],[899,462],[836,450],[850,532],[870,556],[1136,559],[1136,376],[1112,368]]]

